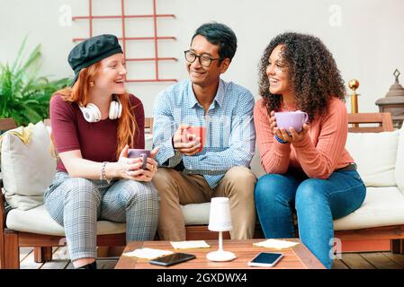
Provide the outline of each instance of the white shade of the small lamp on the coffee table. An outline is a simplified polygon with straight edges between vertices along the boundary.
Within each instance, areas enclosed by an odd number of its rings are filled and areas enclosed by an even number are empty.
[[[213,197],[211,199],[208,229],[211,231],[229,231],[233,229],[228,197]]]

